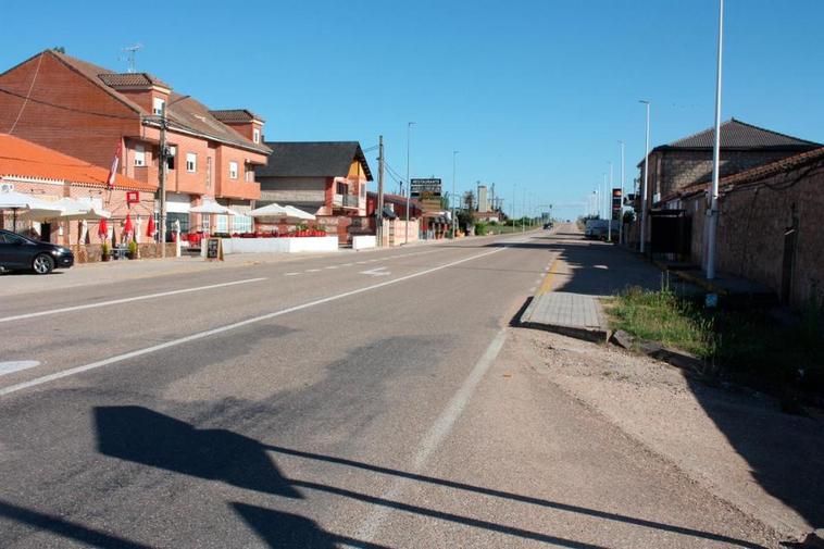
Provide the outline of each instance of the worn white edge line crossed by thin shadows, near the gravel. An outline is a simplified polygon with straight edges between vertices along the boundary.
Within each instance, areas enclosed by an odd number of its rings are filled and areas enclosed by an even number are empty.
[[[489,366],[492,365],[495,359],[503,348],[503,344],[507,339],[507,329],[503,328],[496,334],[489,347],[486,348],[484,355],[477,361],[475,366],[470,372],[470,375],[461,384],[461,387],[455,391],[452,398],[447,403],[446,408],[435,423],[429,427],[429,431],[421,440],[417,452],[412,461],[412,469],[410,473],[421,473],[426,462],[429,460],[435,450],[438,449],[440,444],[449,436],[458,419],[463,413],[463,409],[472,398],[472,394],[475,391],[475,387],[486,375]],[[396,479],[389,485],[389,487],[379,496],[383,500],[396,500],[403,488],[410,483],[409,478],[396,477]],[[372,511],[366,519],[361,523],[353,537],[362,540],[365,544],[371,542],[377,535],[378,529],[386,521],[386,517],[391,512],[391,508],[383,506]]]

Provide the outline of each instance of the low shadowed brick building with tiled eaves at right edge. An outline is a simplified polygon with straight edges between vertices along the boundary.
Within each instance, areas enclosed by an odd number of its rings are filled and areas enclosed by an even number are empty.
[[[707,183],[684,189],[691,259],[703,261]],[[824,148],[720,182],[716,265],[759,282],[795,307],[824,299]]]

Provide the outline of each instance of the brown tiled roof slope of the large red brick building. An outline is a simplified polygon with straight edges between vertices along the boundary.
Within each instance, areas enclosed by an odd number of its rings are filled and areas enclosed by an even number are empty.
[[[82,75],[87,77],[89,80],[91,80],[93,84],[100,86],[110,96],[114,97],[122,103],[128,105],[135,112],[142,114],[145,116],[148,116],[151,114],[147,112],[143,108],[135,103],[132,99],[118,92],[115,88],[108,86],[103,80],[103,78],[114,78],[116,76],[117,77],[124,76],[123,74],[114,73],[112,71],[109,71],[108,68],[103,68],[93,63],[89,63],[87,61],[83,61],[83,60],[73,58],[71,55],[66,55],[65,53],[57,52],[54,50],[47,50],[47,52],[57,57],[70,68],[73,68],[74,71],[80,73]],[[134,73],[134,74],[142,75],[145,73]],[[111,76],[105,76],[105,75],[111,75]],[[160,82],[160,80],[157,80],[157,82]],[[166,84],[163,84],[163,86],[171,88]],[[186,99],[183,99],[184,97],[186,97]],[[203,105],[202,103],[200,103],[199,101],[197,101],[196,99],[191,97],[182,96],[173,91],[168,97],[166,116],[170,120],[170,126],[172,126],[173,128],[174,128],[174,125],[177,124],[179,126],[179,129],[188,130],[188,132],[201,135],[205,138],[213,139],[215,141],[226,142],[228,145],[235,145],[238,147],[242,147],[245,149],[250,149],[250,150],[260,152],[262,154],[269,154],[270,152],[267,147],[264,147],[261,144],[255,144],[251,139],[247,139],[246,137],[241,136],[240,134],[238,134],[237,132],[228,127],[227,125],[223,124],[221,121],[215,118],[209,112],[209,109],[207,109],[205,105]]]

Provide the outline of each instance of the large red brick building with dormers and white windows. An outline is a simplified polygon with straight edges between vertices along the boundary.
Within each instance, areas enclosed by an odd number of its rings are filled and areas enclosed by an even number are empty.
[[[168,225],[184,230],[251,226],[251,219],[189,213],[203,197],[244,213],[260,197],[254,166],[265,164],[263,120],[244,109],[210,111],[147,73],[114,73],[46,50],[0,74],[0,132],[158,187],[161,112],[168,121]],[[141,197],[142,198],[142,197]],[[105,204],[109,209],[110,204]]]

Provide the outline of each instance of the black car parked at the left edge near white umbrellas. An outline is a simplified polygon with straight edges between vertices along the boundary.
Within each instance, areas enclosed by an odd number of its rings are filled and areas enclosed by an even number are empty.
[[[40,242],[0,228],[0,271],[28,271],[49,274],[54,269],[74,265],[68,248]]]

